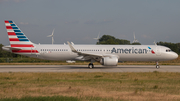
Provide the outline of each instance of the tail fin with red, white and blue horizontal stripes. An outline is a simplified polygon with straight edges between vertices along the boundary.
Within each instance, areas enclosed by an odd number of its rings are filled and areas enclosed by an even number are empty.
[[[29,50],[31,53],[36,53],[34,49],[34,44],[25,36],[25,34],[19,29],[19,27],[11,20],[5,20],[5,25],[7,29],[7,34],[9,37],[10,45],[12,52],[19,52],[22,53],[25,49],[31,49]],[[14,50],[14,49],[21,49],[21,50]],[[26,53],[23,52],[23,53]]]

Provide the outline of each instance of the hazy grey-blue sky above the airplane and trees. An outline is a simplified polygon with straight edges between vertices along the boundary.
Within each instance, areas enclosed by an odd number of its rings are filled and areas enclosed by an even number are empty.
[[[141,44],[180,42],[180,0],[0,0],[0,44],[13,20],[34,43],[95,44],[100,32]]]

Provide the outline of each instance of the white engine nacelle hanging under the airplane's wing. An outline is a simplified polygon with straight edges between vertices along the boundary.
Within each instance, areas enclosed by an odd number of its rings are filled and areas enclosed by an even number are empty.
[[[117,66],[118,58],[117,57],[104,57],[100,61],[101,65],[104,66]]]

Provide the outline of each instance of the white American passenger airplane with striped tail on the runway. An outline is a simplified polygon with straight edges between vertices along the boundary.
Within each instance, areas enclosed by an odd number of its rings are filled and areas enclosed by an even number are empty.
[[[20,55],[46,59],[90,61],[88,67],[94,68],[93,63],[103,66],[117,66],[118,61],[159,61],[173,60],[178,54],[170,48],[160,45],[72,45],[66,44],[35,44],[11,20],[5,20],[10,45],[2,49]]]

